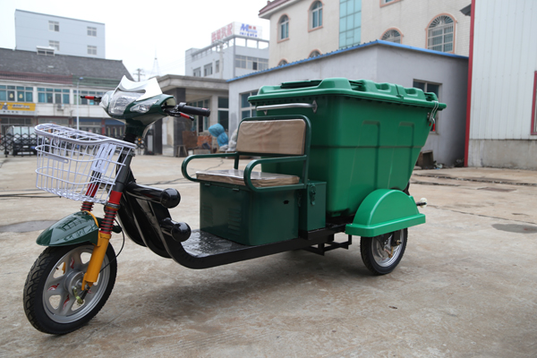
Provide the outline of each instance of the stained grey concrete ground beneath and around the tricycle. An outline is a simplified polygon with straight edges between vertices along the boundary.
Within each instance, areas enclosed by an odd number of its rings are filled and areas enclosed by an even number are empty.
[[[133,171],[138,183],[179,190],[173,217],[195,228],[197,184],[181,161],[139,156]],[[358,238],[325,257],[291,251],[204,270],[127,239],[102,311],[52,337],[26,320],[22,287],[40,230],[80,203],[36,190],[35,163],[0,158],[0,356],[537,356],[537,172],[416,171],[410,190],[429,200],[427,224],[409,229],[405,257],[383,277],[362,264]],[[121,241],[115,234],[116,251]]]

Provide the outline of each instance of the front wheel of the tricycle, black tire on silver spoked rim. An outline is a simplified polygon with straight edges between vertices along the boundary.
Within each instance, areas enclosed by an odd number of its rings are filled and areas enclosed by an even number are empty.
[[[81,243],[48,247],[39,255],[26,278],[23,297],[24,312],[34,328],[52,335],[64,335],[84,326],[104,306],[117,274],[112,245],[108,245],[103,262],[103,267],[109,265],[101,270],[98,282],[91,287],[82,305],[76,303],[72,290],[66,288],[77,286],[80,293],[81,278],[92,251],[92,244]]]

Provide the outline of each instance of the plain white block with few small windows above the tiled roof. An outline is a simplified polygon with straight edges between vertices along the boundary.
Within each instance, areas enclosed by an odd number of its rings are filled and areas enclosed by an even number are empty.
[[[15,10],[15,48],[105,58],[105,24]]]

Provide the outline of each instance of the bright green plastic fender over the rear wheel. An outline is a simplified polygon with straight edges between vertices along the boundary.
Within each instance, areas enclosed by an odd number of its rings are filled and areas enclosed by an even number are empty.
[[[345,234],[373,237],[424,223],[425,215],[420,214],[412,196],[378,189],[362,201],[353,224],[345,226]]]

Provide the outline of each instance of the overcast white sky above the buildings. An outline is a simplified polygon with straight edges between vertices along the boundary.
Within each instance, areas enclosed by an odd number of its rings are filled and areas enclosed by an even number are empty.
[[[45,13],[106,25],[107,59],[123,60],[131,73],[143,69],[146,79],[159,74],[184,74],[184,52],[210,45],[211,32],[238,21],[262,27],[258,13],[267,0],[65,1],[0,0],[0,47],[15,48],[15,10]],[[143,78],[142,78],[143,79]]]

